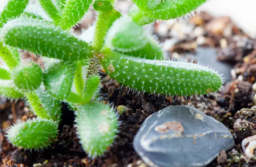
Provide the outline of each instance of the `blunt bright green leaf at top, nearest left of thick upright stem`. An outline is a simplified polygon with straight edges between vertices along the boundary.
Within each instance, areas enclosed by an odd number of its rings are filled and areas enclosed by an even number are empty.
[[[70,29],[79,22],[89,9],[93,0],[66,0],[64,9],[61,11],[61,22],[59,25],[62,29]]]

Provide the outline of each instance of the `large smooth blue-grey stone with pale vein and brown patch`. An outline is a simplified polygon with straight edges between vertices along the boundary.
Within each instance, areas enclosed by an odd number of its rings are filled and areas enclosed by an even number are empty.
[[[194,107],[176,105],[150,115],[133,145],[152,167],[206,166],[221,150],[230,150],[234,139],[221,122]]]

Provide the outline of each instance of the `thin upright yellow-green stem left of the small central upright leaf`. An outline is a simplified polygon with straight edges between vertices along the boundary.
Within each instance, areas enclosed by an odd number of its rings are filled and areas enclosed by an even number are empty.
[[[77,63],[75,77],[74,77],[74,84],[76,87],[76,92],[79,95],[83,95],[84,90],[84,79],[82,76],[82,65],[80,62]]]

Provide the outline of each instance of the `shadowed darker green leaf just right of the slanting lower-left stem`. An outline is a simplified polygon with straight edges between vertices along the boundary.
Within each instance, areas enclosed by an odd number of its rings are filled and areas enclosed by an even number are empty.
[[[45,89],[44,85],[41,85],[39,89],[35,91],[41,101],[44,109],[47,111],[47,115],[56,123],[61,121],[61,101],[52,97]]]

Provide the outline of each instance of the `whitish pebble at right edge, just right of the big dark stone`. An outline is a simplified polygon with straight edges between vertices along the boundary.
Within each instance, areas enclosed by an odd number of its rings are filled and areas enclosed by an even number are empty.
[[[254,157],[255,155],[253,155],[253,150],[256,148],[256,135],[244,138],[241,145],[243,152],[247,158]],[[247,147],[245,147],[246,145]]]

